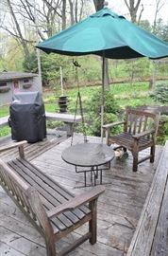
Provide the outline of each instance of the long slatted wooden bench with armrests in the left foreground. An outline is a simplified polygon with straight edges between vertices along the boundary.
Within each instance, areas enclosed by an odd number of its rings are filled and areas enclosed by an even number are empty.
[[[86,240],[96,242],[96,202],[105,191],[97,186],[74,196],[25,159],[26,141],[0,148],[0,152],[19,148],[20,157],[5,163],[0,160],[0,184],[25,216],[42,234],[48,256],[66,255]],[[89,203],[89,206],[87,205]],[[85,223],[89,231],[72,245],[56,250],[55,243]]]

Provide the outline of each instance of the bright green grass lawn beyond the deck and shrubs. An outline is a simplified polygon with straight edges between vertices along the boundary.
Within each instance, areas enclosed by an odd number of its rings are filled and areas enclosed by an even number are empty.
[[[91,97],[92,94],[96,90],[100,90],[101,86],[90,86],[90,87],[81,87],[80,94],[82,97],[82,106],[83,109],[87,112],[89,104],[91,104]],[[117,83],[111,84],[110,90],[114,95],[114,98],[117,100],[119,106],[121,108],[125,108],[127,105],[130,106],[138,106],[138,105],[160,105],[159,102],[154,102],[149,97],[149,89],[148,89],[148,82],[136,82],[135,84],[129,83]],[[65,94],[68,97],[68,112],[75,113],[76,109],[76,97],[77,97],[77,88],[66,90]],[[43,100],[45,104],[45,111],[46,112],[59,112],[59,105],[58,105],[58,97],[59,91],[52,92],[50,94],[47,93],[43,94]],[[79,110],[79,106],[78,106]],[[0,107],[0,118],[8,116],[9,108],[8,106]],[[51,125],[52,126],[52,125]],[[7,136],[10,132],[10,128],[3,127],[0,128],[0,137]]]

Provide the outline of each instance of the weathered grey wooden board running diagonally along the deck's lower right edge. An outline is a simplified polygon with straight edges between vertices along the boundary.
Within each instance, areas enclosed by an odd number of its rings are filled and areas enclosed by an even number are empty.
[[[168,143],[160,157],[160,163],[154,176],[150,191],[147,195],[138,227],[134,233],[127,256],[149,256],[155,230],[157,228],[160,206],[168,175]],[[164,208],[164,206],[163,206]],[[161,223],[161,226],[164,225]],[[160,227],[158,228],[160,229]],[[159,232],[160,233],[160,232]],[[156,243],[157,238],[156,238]],[[155,247],[157,247],[157,244]],[[158,244],[159,245],[159,244]],[[161,252],[160,252],[161,253]],[[153,255],[153,254],[151,254]],[[154,254],[155,255],[155,254]],[[158,255],[158,254],[157,254]],[[166,255],[166,254],[163,254]]]

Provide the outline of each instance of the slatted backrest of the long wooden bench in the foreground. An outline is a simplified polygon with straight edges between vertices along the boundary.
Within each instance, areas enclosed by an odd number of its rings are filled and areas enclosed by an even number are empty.
[[[40,197],[38,192],[29,186],[19,174],[16,174],[4,161],[0,160],[0,185],[8,193],[15,204],[24,211],[31,223],[42,232],[42,223],[34,210],[31,198],[36,197],[36,204],[39,206]],[[33,192],[33,195],[31,193]]]

